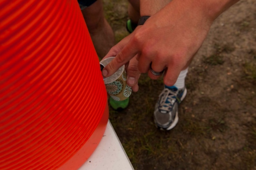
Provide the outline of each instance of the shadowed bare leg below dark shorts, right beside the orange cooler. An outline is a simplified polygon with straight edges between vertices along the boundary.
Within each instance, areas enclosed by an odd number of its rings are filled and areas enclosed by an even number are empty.
[[[114,32],[104,17],[102,0],[97,0],[82,10],[92,42],[100,58],[115,45]]]

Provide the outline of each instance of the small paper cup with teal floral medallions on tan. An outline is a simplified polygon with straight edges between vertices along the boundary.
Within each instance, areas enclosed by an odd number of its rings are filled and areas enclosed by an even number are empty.
[[[115,57],[109,57],[100,61],[102,66],[106,66]],[[126,84],[126,71],[124,65],[120,67],[110,77],[103,78],[107,93],[116,101],[122,101],[127,99],[131,93],[132,88]]]

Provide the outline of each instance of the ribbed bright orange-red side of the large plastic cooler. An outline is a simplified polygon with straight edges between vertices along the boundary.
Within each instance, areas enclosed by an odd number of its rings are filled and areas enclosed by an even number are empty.
[[[76,0],[1,0],[0,22],[0,169],[56,169],[107,101],[81,10]]]

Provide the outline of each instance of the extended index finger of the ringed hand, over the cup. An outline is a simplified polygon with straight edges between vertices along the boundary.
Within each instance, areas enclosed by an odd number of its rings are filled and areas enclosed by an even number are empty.
[[[113,75],[122,65],[126,64],[139,51],[135,43],[129,43],[115,56],[115,58],[102,70],[103,77]]]

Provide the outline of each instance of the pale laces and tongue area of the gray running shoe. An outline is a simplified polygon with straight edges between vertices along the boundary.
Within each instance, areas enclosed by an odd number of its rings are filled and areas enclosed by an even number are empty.
[[[173,104],[177,99],[178,92],[179,92],[178,90],[171,91],[167,88],[165,88],[162,91],[162,93],[159,95],[159,97],[162,96],[160,100],[160,106],[159,106],[159,110],[162,113],[167,113],[168,111],[170,111],[170,109],[172,108]]]

